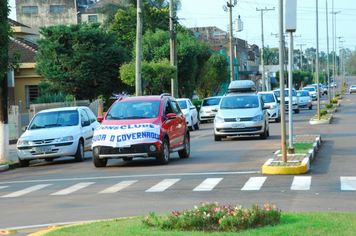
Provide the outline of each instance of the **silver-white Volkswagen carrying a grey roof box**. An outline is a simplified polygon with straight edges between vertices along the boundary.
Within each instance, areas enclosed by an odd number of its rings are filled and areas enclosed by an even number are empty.
[[[214,140],[237,135],[260,135],[261,139],[266,139],[269,136],[269,108],[264,105],[253,81],[231,82],[215,115]]]

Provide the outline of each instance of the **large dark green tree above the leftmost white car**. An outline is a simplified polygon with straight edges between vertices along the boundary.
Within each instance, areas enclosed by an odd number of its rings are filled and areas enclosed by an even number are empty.
[[[119,67],[127,53],[115,44],[99,23],[41,27],[36,73],[47,78],[63,94],[94,99],[121,92],[125,86]]]

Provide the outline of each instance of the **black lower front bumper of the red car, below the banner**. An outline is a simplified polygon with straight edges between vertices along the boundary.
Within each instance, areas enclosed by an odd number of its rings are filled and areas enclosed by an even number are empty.
[[[154,146],[155,150],[151,151],[150,147]],[[95,146],[93,148],[93,157],[99,159],[118,159],[132,157],[156,157],[160,154],[160,142],[135,144],[130,147],[110,147],[110,146]]]

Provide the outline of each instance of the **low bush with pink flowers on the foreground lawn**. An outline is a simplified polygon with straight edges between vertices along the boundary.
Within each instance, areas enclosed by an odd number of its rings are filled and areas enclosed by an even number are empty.
[[[217,202],[205,202],[200,207],[195,206],[194,210],[175,211],[162,218],[151,212],[142,223],[162,230],[238,232],[274,226],[280,219],[281,210],[275,205],[265,204],[263,208],[252,205],[250,209],[244,209],[241,206],[221,206]]]

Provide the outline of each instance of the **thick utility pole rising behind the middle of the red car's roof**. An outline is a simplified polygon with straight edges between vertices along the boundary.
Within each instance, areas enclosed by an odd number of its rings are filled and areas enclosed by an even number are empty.
[[[142,0],[137,0],[136,74],[135,74],[136,96],[142,96],[141,61],[142,61]]]

